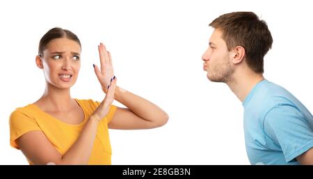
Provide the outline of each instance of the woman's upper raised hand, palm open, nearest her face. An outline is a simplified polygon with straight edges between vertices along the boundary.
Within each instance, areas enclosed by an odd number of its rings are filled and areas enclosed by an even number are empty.
[[[114,77],[111,54],[106,50],[106,47],[102,43],[98,45],[98,50],[101,67],[99,69],[97,65],[94,65],[95,74],[101,84],[102,90],[104,93],[107,93],[111,79]]]

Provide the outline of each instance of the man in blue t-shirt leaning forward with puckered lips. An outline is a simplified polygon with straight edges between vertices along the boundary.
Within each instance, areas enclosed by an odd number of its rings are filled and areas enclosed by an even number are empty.
[[[263,58],[273,39],[252,12],[227,13],[202,56],[210,81],[224,82],[241,100],[251,164],[313,164],[313,118],[294,95],[263,77]]]

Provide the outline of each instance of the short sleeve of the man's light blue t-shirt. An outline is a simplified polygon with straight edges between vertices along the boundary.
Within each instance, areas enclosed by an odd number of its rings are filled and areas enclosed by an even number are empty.
[[[284,159],[291,162],[313,147],[310,124],[296,107],[280,105],[273,107],[264,118],[264,132],[282,148]]]

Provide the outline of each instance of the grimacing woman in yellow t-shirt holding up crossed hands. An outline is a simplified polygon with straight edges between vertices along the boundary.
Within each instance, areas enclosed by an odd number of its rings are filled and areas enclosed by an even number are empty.
[[[33,104],[10,115],[10,145],[22,150],[29,164],[111,164],[108,128],[148,129],[166,124],[168,115],[138,95],[116,85],[111,54],[100,43],[95,75],[106,93],[102,102],[70,95],[81,65],[81,43],[71,31],[50,29],[40,40],[35,63],[46,88]],[[113,100],[127,108],[115,107]]]

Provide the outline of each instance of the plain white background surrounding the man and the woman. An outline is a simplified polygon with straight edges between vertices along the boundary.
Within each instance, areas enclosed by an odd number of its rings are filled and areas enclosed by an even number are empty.
[[[241,10],[255,12],[271,30],[266,79],[312,112],[309,1],[1,1],[0,164],[28,164],[10,147],[8,118],[42,95],[45,79],[35,55],[54,26],[73,31],[82,43],[73,98],[104,98],[92,65],[99,65],[97,45],[104,42],[118,85],[170,116],[154,130],[110,130],[112,164],[250,164],[241,102],[227,85],[207,79],[201,61],[212,31],[208,24]]]

